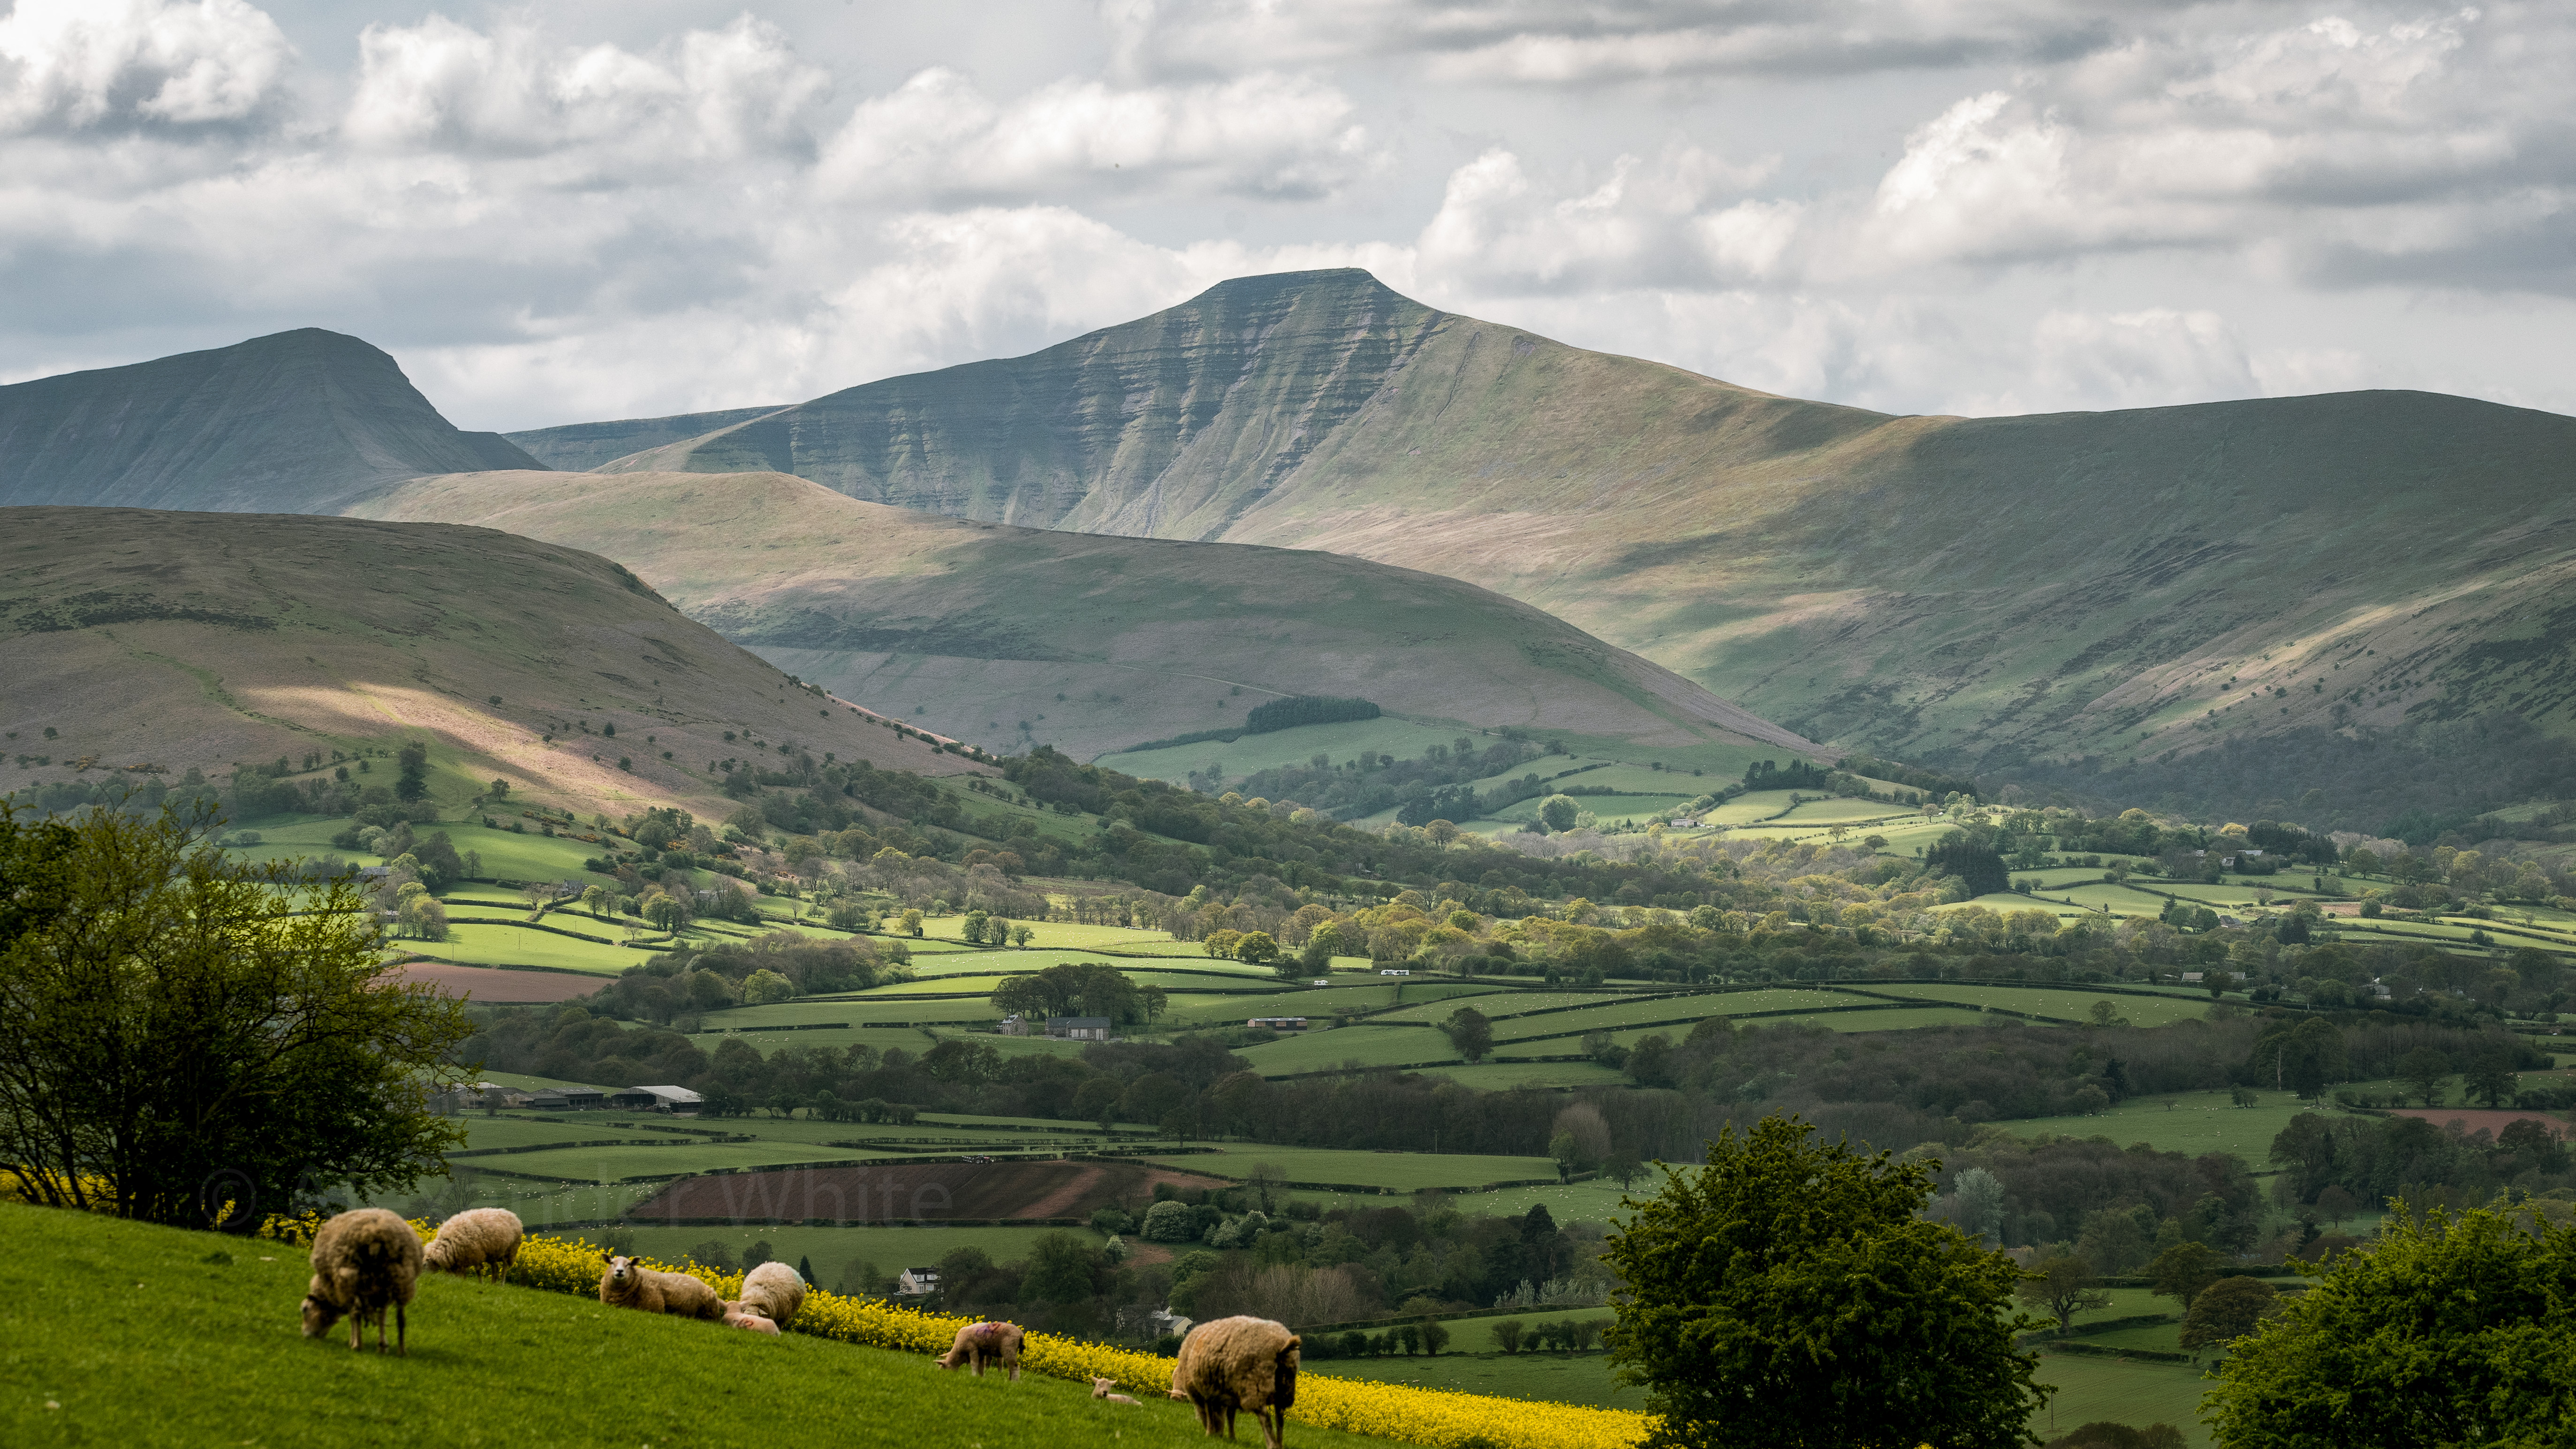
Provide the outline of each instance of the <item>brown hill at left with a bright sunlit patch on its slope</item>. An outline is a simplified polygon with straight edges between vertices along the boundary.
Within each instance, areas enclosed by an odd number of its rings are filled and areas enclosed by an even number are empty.
[[[451,784],[721,820],[737,802],[708,761],[770,745],[969,768],[799,688],[603,557],[443,523],[0,508],[0,676],[5,789],[425,737]]]

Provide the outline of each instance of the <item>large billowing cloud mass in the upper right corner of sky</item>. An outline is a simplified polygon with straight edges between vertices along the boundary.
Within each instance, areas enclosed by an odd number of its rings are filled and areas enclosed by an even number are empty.
[[[2535,64],[2548,57],[2550,64]],[[2576,286],[2563,8],[2138,36],[1906,137],[1888,263],[2184,248],[2324,284]]]

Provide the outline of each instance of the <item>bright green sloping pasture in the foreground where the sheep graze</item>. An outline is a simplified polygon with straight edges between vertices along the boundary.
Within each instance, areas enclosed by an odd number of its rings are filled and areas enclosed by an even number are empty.
[[[281,1243],[0,1204],[0,1441],[36,1444],[1200,1444],[1188,1405],[943,1374],[592,1299],[425,1279],[410,1359],[307,1341]],[[222,1256],[222,1258],[216,1258]],[[1139,1395],[1144,1397],[1144,1395]],[[52,1408],[49,1408],[52,1405]],[[829,1426],[829,1428],[824,1428]],[[933,1428],[935,1426],[935,1428]],[[1309,1449],[1386,1444],[1293,1426]]]

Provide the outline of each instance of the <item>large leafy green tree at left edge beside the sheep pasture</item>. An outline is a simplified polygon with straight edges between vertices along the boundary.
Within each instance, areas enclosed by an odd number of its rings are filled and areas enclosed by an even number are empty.
[[[399,985],[348,877],[240,864],[211,817],[0,802],[0,1181],[33,1201],[247,1230],[322,1189],[410,1189],[474,1024]]]

